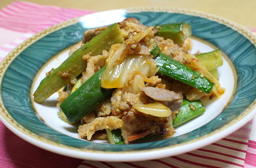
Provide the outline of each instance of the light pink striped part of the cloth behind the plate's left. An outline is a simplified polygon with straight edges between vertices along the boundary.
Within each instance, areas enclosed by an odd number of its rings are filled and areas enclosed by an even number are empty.
[[[16,1],[0,11],[0,27],[37,33],[54,24],[89,13],[92,12]]]

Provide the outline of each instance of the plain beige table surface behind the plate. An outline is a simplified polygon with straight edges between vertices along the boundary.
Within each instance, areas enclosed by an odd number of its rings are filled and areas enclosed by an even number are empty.
[[[243,26],[256,27],[256,1],[255,0],[129,0],[125,1],[90,1],[90,0],[27,0],[41,5],[55,5],[59,7],[78,8],[92,11],[105,11],[120,8],[133,7],[165,7],[183,8],[207,12],[229,20],[235,21]],[[10,4],[11,0],[0,1],[0,8]],[[75,2],[75,3],[74,3]]]

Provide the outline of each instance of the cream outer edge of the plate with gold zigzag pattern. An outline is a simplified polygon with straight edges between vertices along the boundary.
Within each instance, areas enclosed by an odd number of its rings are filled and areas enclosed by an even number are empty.
[[[119,9],[120,10],[120,9]],[[204,13],[204,12],[199,12],[199,11],[194,11],[194,10],[187,10],[187,9],[178,9],[178,8],[128,8],[128,9],[121,9],[125,10],[126,13],[135,13],[135,12],[167,12],[167,13],[182,13],[182,14],[187,14],[187,15],[193,15],[193,16],[199,16],[203,17],[209,20],[214,20],[217,21],[221,24],[224,24],[228,27],[231,27],[233,30],[236,32],[240,33],[244,37],[246,37],[254,46],[256,45],[256,37],[247,29],[245,29],[243,26],[241,26],[238,23],[235,23],[233,21],[230,21],[228,19]],[[117,11],[117,10],[109,10],[109,11]],[[106,11],[103,11],[106,12]],[[101,12],[97,12],[101,13]],[[94,13],[93,13],[94,14]],[[93,15],[89,14],[89,15]],[[86,15],[88,16],[88,15]],[[82,16],[81,16],[82,17]],[[5,70],[9,67],[11,62],[19,55],[20,52],[25,50],[28,46],[32,45],[34,42],[37,40],[47,36],[48,34],[55,32],[59,29],[62,29],[66,26],[75,24],[79,21],[80,17],[61,22],[57,25],[51,26],[48,29],[39,32],[38,34],[32,36],[22,44],[18,45],[16,48],[14,48],[1,62],[0,64],[0,87],[2,87],[2,79],[3,79],[3,74],[5,73]],[[9,115],[7,110],[4,107],[2,97],[0,97],[0,108],[2,109],[3,113],[0,113],[0,119],[1,121],[16,135],[19,137],[23,138],[25,141],[38,146],[42,149],[46,149],[48,151],[70,156],[70,157],[75,157],[75,158],[80,158],[80,159],[89,159],[89,160],[102,160],[102,161],[139,161],[139,160],[148,160],[148,159],[155,159],[155,158],[162,158],[162,157],[167,157],[167,156],[172,156],[172,155],[178,155],[181,153],[185,153],[191,150],[195,150],[198,148],[201,148],[203,146],[206,146],[208,144],[211,144],[213,142],[218,141],[219,139],[227,136],[228,134],[232,133],[233,131],[236,131],[240,127],[242,127],[244,124],[246,124],[256,113],[255,110],[256,107],[256,101],[254,100],[250,106],[248,106],[241,115],[237,116],[234,118],[232,121],[229,123],[225,124],[224,126],[220,127],[219,129],[212,131],[206,135],[203,135],[199,138],[195,138],[193,140],[190,140],[188,142],[180,143],[177,145],[171,145],[168,147],[163,147],[163,148],[157,148],[157,149],[150,149],[150,150],[141,150],[141,151],[128,151],[128,152],[104,152],[104,151],[95,151],[95,150],[84,150],[75,148],[75,147],[70,147],[62,144],[57,144],[49,139],[42,138],[30,131],[28,131],[26,128],[23,126],[19,125],[12,117]],[[6,120],[7,119],[7,120]],[[230,131],[227,131],[230,130]],[[214,137],[216,134],[219,133],[222,136],[219,137]],[[39,142],[38,142],[39,141]],[[205,141],[206,143],[200,143],[202,141]],[[41,143],[41,144],[40,144]],[[187,146],[193,145],[193,148],[187,148]],[[185,147],[185,148],[184,148]],[[175,150],[175,148],[183,148],[183,150],[177,151],[170,154],[168,153],[170,149]],[[67,152],[69,150],[69,152]],[[73,152],[73,154],[72,154]],[[75,152],[75,153],[74,153]],[[77,153],[82,152],[83,156],[77,155]],[[141,157],[141,153],[146,152],[146,156]],[[68,154],[67,154],[68,153]],[[87,153],[87,155],[84,155]],[[106,157],[105,154],[108,153],[108,155],[112,155],[111,157]],[[95,155],[96,154],[96,155]],[[113,156],[116,156],[116,154],[119,155],[119,158],[115,158]],[[133,155],[131,155],[133,154]],[[95,156],[94,156],[95,155]],[[99,157],[99,155],[102,155],[105,158]],[[121,156],[122,155],[122,156]],[[130,158],[127,158],[127,155],[130,155]],[[156,155],[156,156],[155,156]],[[132,157],[131,157],[132,156]],[[121,158],[120,158],[121,157]],[[123,159],[123,160],[122,160]],[[130,159],[130,160],[127,160]]]

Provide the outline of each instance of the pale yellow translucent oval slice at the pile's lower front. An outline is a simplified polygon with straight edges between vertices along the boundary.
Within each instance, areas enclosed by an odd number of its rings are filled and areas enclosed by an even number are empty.
[[[141,113],[155,116],[155,117],[168,117],[172,111],[162,103],[155,102],[150,104],[134,104],[133,108]]]

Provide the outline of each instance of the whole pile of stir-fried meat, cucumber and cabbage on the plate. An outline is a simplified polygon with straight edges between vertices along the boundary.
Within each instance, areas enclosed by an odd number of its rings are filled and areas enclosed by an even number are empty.
[[[87,30],[79,46],[47,73],[34,93],[58,92],[59,117],[79,122],[80,138],[131,144],[204,113],[202,97],[219,98],[220,50],[189,53],[187,23],[146,26],[135,18]]]

